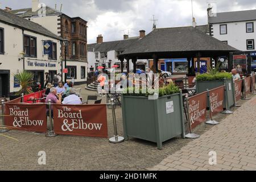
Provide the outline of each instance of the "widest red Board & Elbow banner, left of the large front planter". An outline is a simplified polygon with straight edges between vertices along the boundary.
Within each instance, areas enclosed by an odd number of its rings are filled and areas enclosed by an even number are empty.
[[[106,105],[53,105],[56,134],[108,138]]]

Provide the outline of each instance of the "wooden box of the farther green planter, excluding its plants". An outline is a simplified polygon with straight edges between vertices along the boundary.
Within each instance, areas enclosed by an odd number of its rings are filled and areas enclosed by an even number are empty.
[[[216,81],[196,81],[196,92],[202,93],[205,92],[207,89],[214,89],[219,86],[222,86],[226,84],[226,91],[225,91],[225,99],[224,103],[227,104],[228,108],[226,108],[226,105],[224,105],[224,108],[230,109],[234,105],[234,85],[232,80],[216,80]],[[228,98],[228,99],[226,99]],[[207,103],[207,106],[209,107],[209,103]]]

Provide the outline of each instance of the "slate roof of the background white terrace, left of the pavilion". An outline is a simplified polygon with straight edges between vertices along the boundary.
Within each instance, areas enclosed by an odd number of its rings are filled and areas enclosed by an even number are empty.
[[[125,51],[131,44],[137,42],[139,37],[128,38],[125,40],[116,40],[112,42],[102,42],[101,44],[88,44],[88,52],[108,52],[108,51]]]

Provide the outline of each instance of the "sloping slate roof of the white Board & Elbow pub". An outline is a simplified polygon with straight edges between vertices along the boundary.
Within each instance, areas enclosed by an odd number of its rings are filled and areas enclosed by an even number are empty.
[[[36,32],[38,34],[62,40],[60,36],[53,34],[51,31],[47,30],[43,26],[40,26],[40,24],[31,22],[30,20],[21,18],[2,9],[0,9],[0,22],[11,24],[15,27],[21,27],[28,31]]]

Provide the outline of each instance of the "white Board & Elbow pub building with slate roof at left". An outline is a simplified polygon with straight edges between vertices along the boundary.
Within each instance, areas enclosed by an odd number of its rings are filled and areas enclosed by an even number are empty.
[[[44,41],[51,41],[51,55],[44,55]],[[0,97],[17,92],[14,75],[23,70],[44,83],[44,73],[60,72],[61,38],[30,20],[0,9]],[[24,53],[24,54],[23,54]]]

